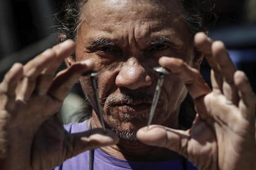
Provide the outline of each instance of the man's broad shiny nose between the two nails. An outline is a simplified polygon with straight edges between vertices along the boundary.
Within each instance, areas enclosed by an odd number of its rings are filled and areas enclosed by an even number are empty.
[[[126,87],[131,90],[150,86],[151,83],[152,79],[147,70],[135,58],[127,60],[116,76],[117,87]]]

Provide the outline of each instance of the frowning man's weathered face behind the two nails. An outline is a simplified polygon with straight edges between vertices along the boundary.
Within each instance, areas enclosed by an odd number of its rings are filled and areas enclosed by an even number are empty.
[[[193,64],[192,38],[181,14],[181,2],[89,0],[78,30],[76,60],[92,59],[106,126],[124,139],[147,125],[162,56]],[[89,78],[82,89],[96,108]],[[177,128],[186,89],[173,74],[165,77],[153,124]],[[93,123],[100,121],[93,115]]]

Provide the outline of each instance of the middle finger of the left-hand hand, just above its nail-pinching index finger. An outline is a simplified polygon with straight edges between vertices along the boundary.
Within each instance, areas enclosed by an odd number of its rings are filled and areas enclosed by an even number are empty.
[[[37,79],[36,92],[40,95],[45,95],[51,86],[56,70],[61,66],[63,60],[74,53],[75,43],[72,40],[67,40],[64,43],[53,47],[52,51],[56,57],[54,62],[48,68],[43,70],[40,77]]]

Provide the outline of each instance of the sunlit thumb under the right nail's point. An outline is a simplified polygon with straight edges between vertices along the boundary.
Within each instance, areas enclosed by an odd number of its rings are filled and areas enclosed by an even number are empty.
[[[170,129],[160,125],[151,125],[139,129],[137,138],[144,144],[168,148],[187,157],[189,131]]]

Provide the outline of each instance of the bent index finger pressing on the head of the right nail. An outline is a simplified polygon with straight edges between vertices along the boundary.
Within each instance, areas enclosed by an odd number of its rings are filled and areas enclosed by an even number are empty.
[[[161,57],[159,63],[161,66],[171,70],[174,75],[178,76],[184,82],[194,100],[211,92],[210,87],[205,83],[199,71],[187,65],[183,60]]]

